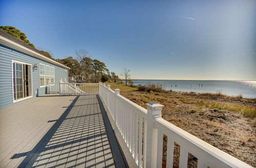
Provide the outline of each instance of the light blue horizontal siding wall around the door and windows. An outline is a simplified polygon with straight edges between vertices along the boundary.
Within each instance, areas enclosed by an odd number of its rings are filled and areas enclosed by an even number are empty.
[[[39,63],[55,68],[55,81],[59,81],[60,78],[67,78],[68,76],[68,70],[65,68],[39,60],[32,55],[0,44],[0,108],[13,104],[12,60],[32,64],[32,66],[34,64],[37,65],[37,70],[32,70],[33,97],[36,97],[35,91],[38,91],[38,96],[40,96],[46,94],[48,89],[47,87],[40,88],[39,86]]]

